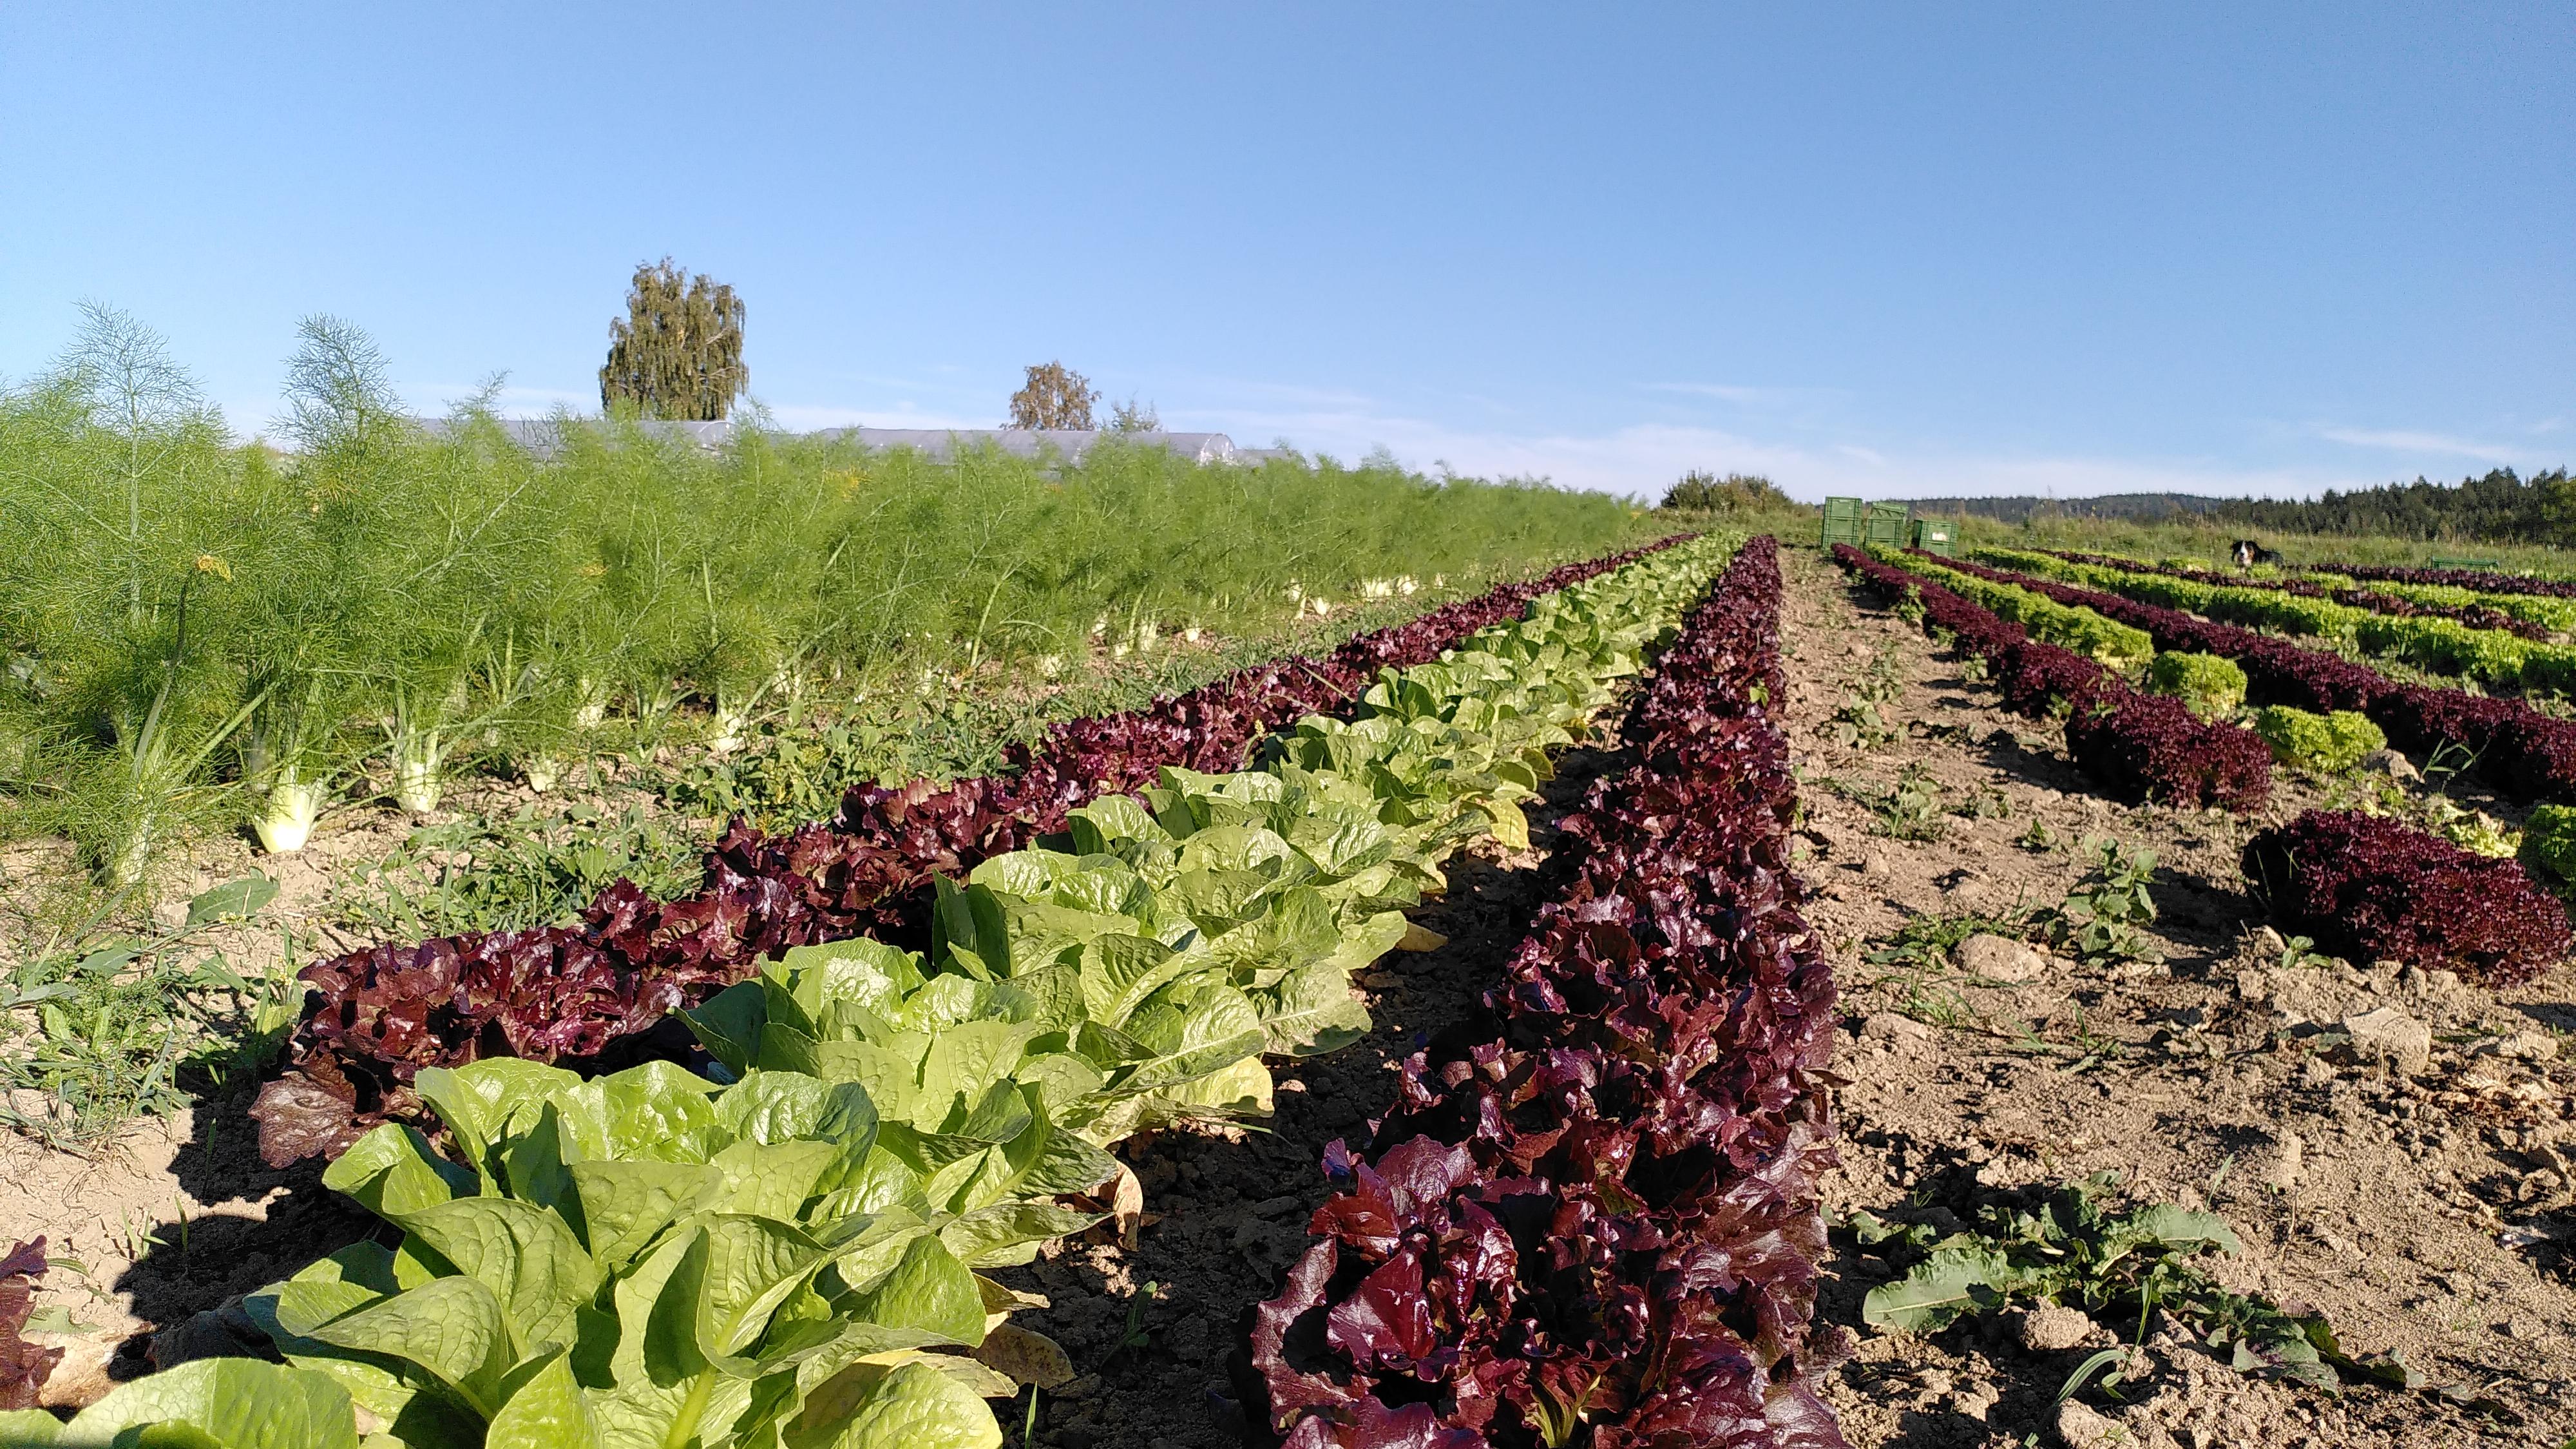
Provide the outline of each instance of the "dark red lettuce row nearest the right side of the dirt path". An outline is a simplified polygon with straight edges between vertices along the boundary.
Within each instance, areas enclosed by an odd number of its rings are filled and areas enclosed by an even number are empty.
[[[2138,694],[2102,663],[2035,639],[2022,624],[1971,603],[1942,583],[1994,590],[1996,580],[1942,567],[1929,554],[1891,557],[1896,562],[1875,559],[1850,544],[1834,547],[1834,562],[1891,598],[1919,598],[1927,627],[1947,629],[1960,650],[1984,657],[1994,668],[2007,709],[2035,719],[2063,709],[2066,750],[2105,792],[2120,799],[2221,804],[2236,812],[2269,799],[2272,750],[2251,732],[2200,719],[2177,696]],[[2027,606],[2025,614],[2040,616]]]

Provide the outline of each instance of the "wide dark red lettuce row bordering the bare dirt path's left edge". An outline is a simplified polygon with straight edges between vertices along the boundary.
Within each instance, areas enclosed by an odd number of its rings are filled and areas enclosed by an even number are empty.
[[[1566,820],[1582,859],[1432,1036],[1239,1361],[1288,1449],[1839,1446],[1811,1328],[1834,982],[1798,913],[1754,539]]]

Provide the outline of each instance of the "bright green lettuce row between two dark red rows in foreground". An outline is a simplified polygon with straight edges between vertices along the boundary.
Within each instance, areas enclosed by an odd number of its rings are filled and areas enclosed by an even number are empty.
[[[1265,1055],[1368,1029],[1404,944],[1726,562],[1716,539],[1540,593],[1260,768],[1177,763],[933,874],[927,951],[791,944],[677,1021],[708,1075],[428,1065],[325,1183],[399,1240],[250,1294],[283,1364],[204,1359],[0,1439],[371,1449],[997,1449],[1072,1377],[989,1269],[1103,1217],[1141,1127],[1270,1106]],[[188,1439],[196,1434],[198,1439]]]

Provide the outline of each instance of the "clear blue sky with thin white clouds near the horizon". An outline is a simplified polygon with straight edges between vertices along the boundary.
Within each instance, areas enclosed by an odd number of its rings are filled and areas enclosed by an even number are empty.
[[[595,407],[636,260],[786,423],[1659,490],[2576,462],[2561,5],[10,5],[0,374],[77,299],[234,425],[307,312]]]

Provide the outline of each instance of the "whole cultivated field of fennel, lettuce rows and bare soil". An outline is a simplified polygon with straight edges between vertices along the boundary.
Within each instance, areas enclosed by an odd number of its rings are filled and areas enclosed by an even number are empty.
[[[10,619],[0,1439],[2576,1441],[2522,559],[201,443]]]

